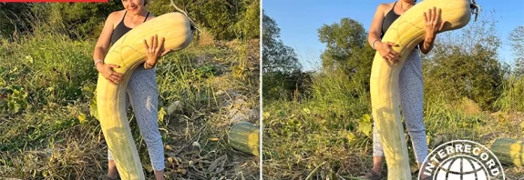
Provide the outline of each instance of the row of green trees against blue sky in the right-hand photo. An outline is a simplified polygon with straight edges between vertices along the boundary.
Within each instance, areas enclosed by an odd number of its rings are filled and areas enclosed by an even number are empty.
[[[309,99],[336,88],[315,82],[321,78],[340,78],[351,84],[344,95],[368,95],[362,92],[369,91],[375,50],[367,44],[367,32],[360,22],[344,17],[319,27],[318,38],[325,45],[322,66],[315,72],[302,72],[293,48],[280,40],[276,21],[262,15],[264,100],[292,100],[297,94]],[[496,21],[485,17],[463,29],[437,35],[433,51],[422,55],[426,96],[449,101],[467,97],[485,110],[498,110],[505,91],[524,81],[524,25],[517,26],[507,39],[496,35],[495,27]],[[503,42],[513,48],[514,65],[498,58]],[[524,93],[524,87],[519,91]]]

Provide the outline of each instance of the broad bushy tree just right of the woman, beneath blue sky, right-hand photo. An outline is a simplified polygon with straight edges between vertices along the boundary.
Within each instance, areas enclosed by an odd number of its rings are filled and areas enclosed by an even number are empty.
[[[498,61],[496,32],[495,21],[482,19],[437,35],[437,43],[424,62],[426,94],[448,100],[467,97],[493,110],[509,73]]]

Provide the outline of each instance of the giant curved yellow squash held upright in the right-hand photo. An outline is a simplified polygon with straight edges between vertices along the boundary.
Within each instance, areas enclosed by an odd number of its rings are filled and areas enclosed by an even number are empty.
[[[461,28],[467,25],[471,18],[469,0],[424,0],[398,17],[382,39],[382,42],[399,45],[393,47],[401,55],[399,63],[390,67],[378,52],[373,60],[370,78],[372,114],[384,148],[389,179],[411,179],[399,110],[398,76],[406,56],[424,40],[424,12],[433,6],[442,9],[442,20],[447,21],[441,32]]]

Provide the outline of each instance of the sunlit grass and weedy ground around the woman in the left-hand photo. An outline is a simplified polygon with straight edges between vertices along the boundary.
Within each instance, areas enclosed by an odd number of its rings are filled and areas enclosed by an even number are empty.
[[[96,42],[52,33],[0,40],[0,177],[94,179],[107,146],[90,110]],[[167,179],[259,179],[258,157],[227,143],[229,112],[258,107],[258,39],[193,44],[159,60],[159,129]],[[256,65],[256,66],[255,66]],[[252,73],[255,72],[255,73]],[[232,95],[234,94],[234,96]],[[168,108],[177,102],[177,108]],[[132,111],[133,136],[148,179],[147,147]],[[254,118],[245,119],[258,125]]]

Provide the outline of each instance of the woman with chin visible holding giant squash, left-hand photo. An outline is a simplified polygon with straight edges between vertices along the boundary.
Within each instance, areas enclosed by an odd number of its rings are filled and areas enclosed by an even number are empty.
[[[155,18],[155,15],[149,13],[144,0],[122,0],[122,5],[124,5],[124,10],[113,12],[108,16],[102,33],[98,37],[93,55],[98,72],[115,85],[122,81],[122,74],[113,70],[118,68],[118,65],[105,64],[103,61],[108,53],[109,45],[113,45],[133,27]],[[158,36],[155,35],[150,37],[148,44],[144,39],[143,43],[148,57],[144,65],[137,67],[131,75],[126,99],[127,106],[130,103],[133,107],[140,134],[148,145],[149,158],[156,179],[164,179],[164,148],[157,123],[159,89],[155,76],[155,65],[159,56],[170,52],[168,50],[159,53],[164,40],[162,38],[159,42]],[[108,175],[104,179],[116,179],[117,175],[117,166],[112,159],[111,152],[108,151]]]

